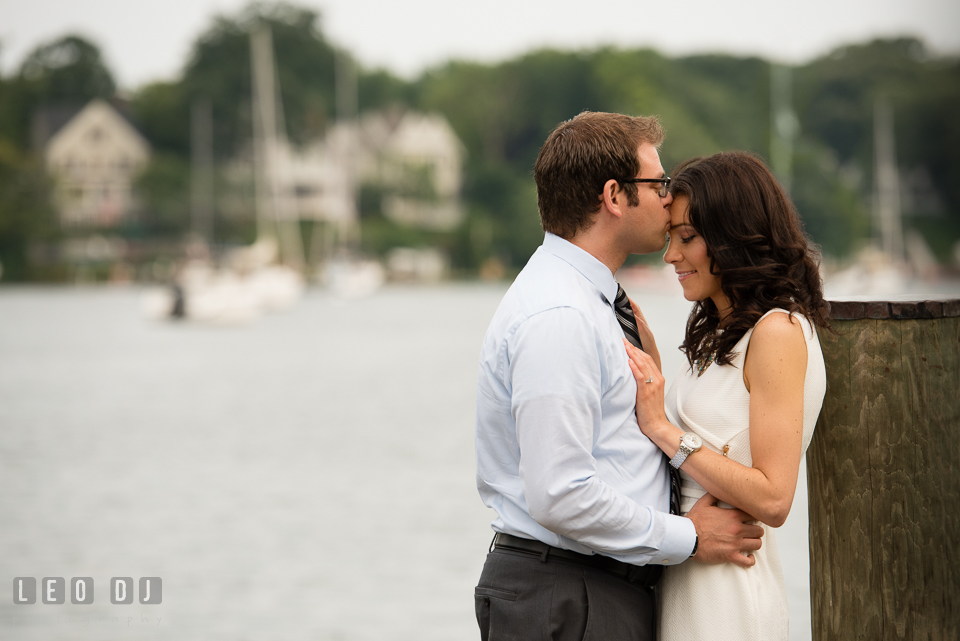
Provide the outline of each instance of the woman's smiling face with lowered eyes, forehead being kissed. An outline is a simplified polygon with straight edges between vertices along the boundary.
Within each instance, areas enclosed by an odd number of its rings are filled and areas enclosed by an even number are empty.
[[[689,301],[710,298],[721,312],[730,301],[720,288],[720,278],[710,273],[707,243],[690,224],[690,199],[680,195],[670,204],[670,241],[663,260],[673,265]]]

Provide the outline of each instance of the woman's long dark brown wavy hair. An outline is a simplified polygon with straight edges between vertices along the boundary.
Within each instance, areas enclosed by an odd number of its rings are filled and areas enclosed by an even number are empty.
[[[680,346],[691,367],[711,358],[729,364],[737,342],[774,308],[829,327],[819,248],[760,159],[731,151],[687,160],[674,171],[670,192],[690,199],[690,224],[706,242],[710,271],[733,305],[720,332],[714,302],[694,304]]]

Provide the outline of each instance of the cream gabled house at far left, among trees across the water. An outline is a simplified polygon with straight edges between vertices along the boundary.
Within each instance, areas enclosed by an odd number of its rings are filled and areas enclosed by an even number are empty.
[[[132,186],[150,159],[150,145],[103,100],[93,100],[47,143],[65,227],[111,227],[130,214]]]

